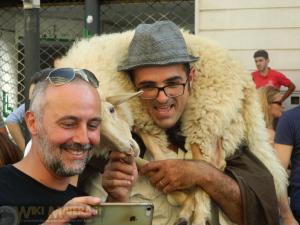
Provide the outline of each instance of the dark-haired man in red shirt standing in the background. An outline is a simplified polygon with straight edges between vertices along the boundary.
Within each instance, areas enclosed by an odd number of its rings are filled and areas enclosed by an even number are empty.
[[[281,86],[287,87],[288,90],[282,95],[280,100],[280,102],[283,102],[295,90],[295,84],[284,74],[268,67],[270,60],[269,54],[266,50],[256,51],[253,57],[257,70],[252,72],[252,79],[255,82],[256,88],[273,86],[280,89]]]

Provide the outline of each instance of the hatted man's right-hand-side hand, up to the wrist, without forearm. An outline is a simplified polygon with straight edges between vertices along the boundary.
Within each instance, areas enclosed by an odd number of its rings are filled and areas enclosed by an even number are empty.
[[[197,164],[201,161],[167,159],[149,162],[140,169],[140,174],[149,178],[153,186],[169,193],[195,186]]]

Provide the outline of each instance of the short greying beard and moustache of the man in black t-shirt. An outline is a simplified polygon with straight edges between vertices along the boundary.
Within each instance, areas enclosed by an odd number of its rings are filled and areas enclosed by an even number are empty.
[[[92,157],[93,146],[90,144],[79,143],[63,143],[54,144],[48,138],[46,131],[42,128],[38,128],[37,140],[39,144],[39,152],[42,156],[44,165],[60,177],[71,177],[83,172],[88,161]],[[88,155],[83,160],[64,160],[64,151],[76,151],[76,152],[88,152]],[[68,165],[69,164],[69,165]]]

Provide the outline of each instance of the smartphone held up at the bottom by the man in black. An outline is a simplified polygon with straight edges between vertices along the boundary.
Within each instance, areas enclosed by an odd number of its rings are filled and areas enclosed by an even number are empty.
[[[152,225],[152,203],[101,203],[97,215],[86,224],[97,225]]]

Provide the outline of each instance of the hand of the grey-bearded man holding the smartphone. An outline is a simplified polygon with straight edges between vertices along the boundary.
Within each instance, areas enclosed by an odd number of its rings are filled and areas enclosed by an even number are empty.
[[[97,214],[92,206],[100,205],[97,197],[76,197],[68,201],[63,207],[54,210],[43,225],[64,225],[76,218],[86,219]]]

